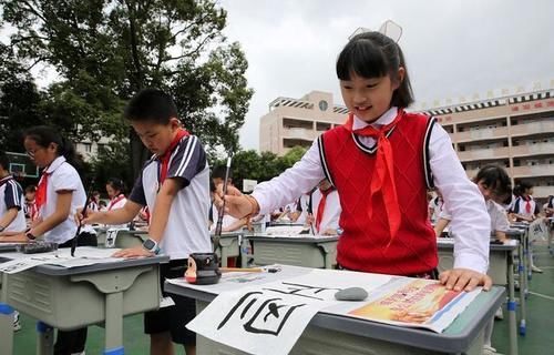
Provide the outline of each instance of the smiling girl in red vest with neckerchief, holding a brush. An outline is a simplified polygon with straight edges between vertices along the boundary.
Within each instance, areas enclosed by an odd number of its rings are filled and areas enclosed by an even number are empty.
[[[226,197],[229,213],[267,213],[327,178],[342,206],[340,267],[433,277],[437,241],[427,190],[435,187],[452,206],[458,231],[454,268],[439,280],[449,290],[488,290],[490,220],[483,197],[448,133],[433,118],[404,111],[413,98],[400,47],[379,32],[360,33],[339,54],[337,75],[350,111],[347,122],[325,132],[300,162],[252,195],[233,191]]]

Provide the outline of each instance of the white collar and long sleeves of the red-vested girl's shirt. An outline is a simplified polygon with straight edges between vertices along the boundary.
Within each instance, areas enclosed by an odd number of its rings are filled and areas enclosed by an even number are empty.
[[[391,108],[376,122],[375,128],[388,124],[397,116],[398,109]],[[355,116],[352,129],[361,129],[368,123]],[[372,146],[370,136],[358,136],[362,144]],[[302,159],[293,168],[270,181],[256,186],[253,196],[258,201],[260,213],[268,213],[309,191],[325,176],[319,156],[318,140]],[[454,240],[454,267],[471,268],[485,273],[489,267],[490,219],[484,199],[472,183],[458,159],[447,131],[434,124],[429,143],[429,160],[435,187],[451,207],[451,226],[458,231]]]

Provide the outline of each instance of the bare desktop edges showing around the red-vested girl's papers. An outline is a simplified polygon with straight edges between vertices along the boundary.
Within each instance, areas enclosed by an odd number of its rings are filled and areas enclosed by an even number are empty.
[[[211,302],[217,295],[211,292],[209,286],[206,286],[205,290],[189,288],[167,282],[164,284],[164,290],[168,293],[188,296],[202,302]],[[380,339],[444,353],[462,353],[471,346],[483,326],[493,317],[503,302],[504,293],[505,291],[502,287],[493,287],[490,292],[482,292],[441,334],[324,312],[316,314],[309,325],[363,338]]]

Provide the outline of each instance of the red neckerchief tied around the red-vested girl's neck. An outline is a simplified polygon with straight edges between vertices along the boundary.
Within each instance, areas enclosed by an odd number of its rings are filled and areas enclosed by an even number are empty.
[[[387,213],[387,220],[389,221],[389,232],[390,232],[390,241],[387,247],[392,243],[392,240],[397,235],[398,230],[400,229],[400,206],[398,205],[398,195],[397,195],[397,185],[394,183],[394,168],[393,168],[393,155],[392,155],[392,146],[390,145],[389,140],[386,134],[397,125],[397,123],[403,116],[403,110],[398,110],[397,116],[392,120],[391,123],[381,126],[380,129],[375,129],[371,125],[367,125],[362,129],[353,130],[353,114],[349,114],[348,121],[345,124],[345,128],[352,132],[353,134],[361,136],[371,136],[376,140],[377,144],[377,153],[376,153],[376,166],[373,171],[373,176],[371,178],[371,186],[370,186],[370,201],[373,199],[373,195],[381,191],[383,204]],[[368,211],[368,221],[371,221],[372,207]]]

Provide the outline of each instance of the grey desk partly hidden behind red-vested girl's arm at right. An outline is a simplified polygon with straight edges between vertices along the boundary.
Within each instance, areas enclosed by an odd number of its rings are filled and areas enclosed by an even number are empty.
[[[489,248],[489,271],[493,284],[507,287],[507,314],[510,329],[510,354],[517,355],[517,321],[516,321],[516,301],[514,291],[514,254],[519,248],[519,242],[512,244],[491,244]],[[439,271],[450,270],[454,266],[452,239],[438,239],[437,246],[439,251]],[[521,296],[523,295],[520,288]]]

